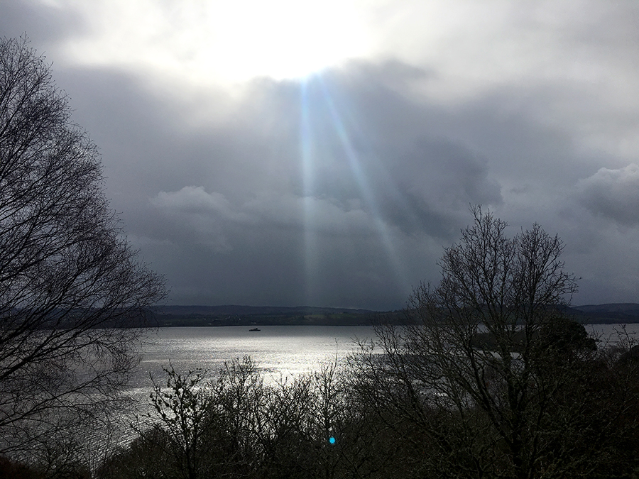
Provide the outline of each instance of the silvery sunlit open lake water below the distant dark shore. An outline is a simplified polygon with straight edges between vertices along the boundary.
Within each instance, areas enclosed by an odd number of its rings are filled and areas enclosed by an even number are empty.
[[[133,394],[148,394],[149,373],[162,380],[162,368],[173,365],[178,372],[201,368],[213,375],[224,361],[251,356],[267,382],[310,373],[322,363],[342,360],[356,351],[356,341],[375,338],[372,326],[209,326],[160,328],[148,336],[142,360],[133,378]],[[639,324],[626,332],[619,324],[588,324],[599,344],[616,343],[624,334],[639,338]]]

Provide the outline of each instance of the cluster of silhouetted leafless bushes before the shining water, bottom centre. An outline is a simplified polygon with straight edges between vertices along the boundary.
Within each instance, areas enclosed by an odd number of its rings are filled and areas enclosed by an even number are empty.
[[[98,478],[384,478],[402,460],[393,431],[352,401],[336,362],[272,385],[249,357],[224,363],[214,380],[165,372],[137,439]]]

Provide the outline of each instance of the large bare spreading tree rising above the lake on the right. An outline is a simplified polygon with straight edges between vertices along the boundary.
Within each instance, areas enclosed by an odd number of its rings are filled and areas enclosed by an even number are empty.
[[[557,236],[535,224],[509,238],[491,212],[472,213],[474,225],[444,250],[439,285],[410,297],[410,324],[381,326],[383,354],[361,354],[360,392],[396,427],[417,426],[412,439],[436,451],[424,467],[452,477],[541,477],[559,470],[549,418],[574,375],[567,355],[592,350],[581,336],[558,339],[572,334],[563,311],[575,278]]]

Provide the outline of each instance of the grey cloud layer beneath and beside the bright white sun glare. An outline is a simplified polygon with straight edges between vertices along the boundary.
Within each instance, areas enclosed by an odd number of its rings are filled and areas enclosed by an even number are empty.
[[[45,7],[28,5],[11,6],[0,26],[36,28],[34,46],[55,53],[71,19],[58,12],[49,27],[32,16]],[[175,303],[402,307],[411,286],[438,280],[442,247],[477,203],[513,233],[537,221],[564,238],[567,265],[584,278],[575,302],[639,302],[636,11],[584,5],[599,13],[585,9],[529,58],[485,65],[481,88],[459,97],[434,93],[447,91],[449,67],[435,60],[257,79],[240,97],[170,92],[115,68],[54,62],[53,75],[101,148],[131,241]],[[526,28],[543,37],[535,21],[522,20],[518,42]],[[561,70],[571,59],[574,71]],[[542,69],[531,74],[528,60]]]

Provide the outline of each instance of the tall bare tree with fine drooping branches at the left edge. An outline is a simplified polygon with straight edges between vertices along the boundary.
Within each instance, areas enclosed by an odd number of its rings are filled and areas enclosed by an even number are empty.
[[[129,326],[164,294],[44,58],[0,39],[0,451],[114,400],[135,365]]]

